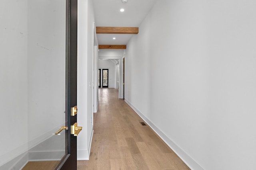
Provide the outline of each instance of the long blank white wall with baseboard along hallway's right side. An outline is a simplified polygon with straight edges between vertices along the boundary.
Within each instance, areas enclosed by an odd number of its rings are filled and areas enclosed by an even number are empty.
[[[127,45],[126,101],[192,169],[256,167],[255,9],[160,0]]]

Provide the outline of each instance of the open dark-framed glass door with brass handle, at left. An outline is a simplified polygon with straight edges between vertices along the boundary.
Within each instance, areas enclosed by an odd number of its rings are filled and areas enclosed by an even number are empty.
[[[0,169],[76,169],[77,0],[6,0],[0,11]]]

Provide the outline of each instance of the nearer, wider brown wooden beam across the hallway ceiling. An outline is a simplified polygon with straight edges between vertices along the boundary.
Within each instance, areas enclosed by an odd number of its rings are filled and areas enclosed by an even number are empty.
[[[97,34],[138,34],[139,27],[96,27]]]

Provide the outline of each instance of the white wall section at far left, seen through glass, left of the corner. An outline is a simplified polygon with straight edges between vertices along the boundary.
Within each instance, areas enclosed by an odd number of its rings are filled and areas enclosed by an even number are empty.
[[[0,167],[28,150],[28,1],[0,6]]]

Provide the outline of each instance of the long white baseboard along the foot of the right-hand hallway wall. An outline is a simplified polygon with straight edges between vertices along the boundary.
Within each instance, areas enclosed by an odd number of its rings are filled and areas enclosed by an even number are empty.
[[[153,131],[183,160],[191,170],[204,170],[193,158],[191,158],[176,143],[167,137],[158,127],[156,127],[143,113],[133,106],[127,99],[124,100],[134,111],[153,129]]]

